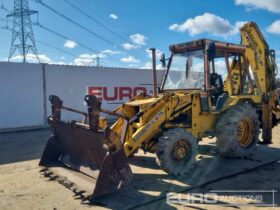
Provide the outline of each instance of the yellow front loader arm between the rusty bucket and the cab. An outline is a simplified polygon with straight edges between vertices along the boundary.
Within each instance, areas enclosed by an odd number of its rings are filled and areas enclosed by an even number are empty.
[[[125,130],[122,140],[111,139],[117,148],[124,147],[126,156],[131,156],[138,148],[149,148],[153,145],[153,139],[162,133],[166,125],[179,116],[181,113],[191,109],[191,94],[166,94],[159,95],[158,98],[150,100],[142,99],[125,103],[123,113],[128,110],[139,110],[134,112],[127,124],[123,119],[119,119],[112,127],[112,132],[121,136],[121,131]],[[126,113],[127,115],[130,115]],[[124,128],[127,126],[127,128]],[[169,125],[170,126],[170,125]],[[191,123],[185,123],[185,127],[191,127]],[[148,150],[149,150],[148,149]]]

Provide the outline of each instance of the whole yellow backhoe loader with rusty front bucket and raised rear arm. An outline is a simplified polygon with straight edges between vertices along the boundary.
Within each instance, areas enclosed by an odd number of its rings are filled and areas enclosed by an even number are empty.
[[[39,163],[43,173],[94,199],[131,183],[128,159],[138,149],[155,153],[160,168],[180,175],[191,173],[203,138],[216,137],[219,153],[237,158],[249,156],[257,143],[271,143],[280,103],[275,53],[255,23],[240,34],[241,44],[199,39],[171,45],[170,58],[161,59],[159,89],[152,49],[153,95],[141,93],[113,111],[102,109],[94,95],[85,96],[87,112],[50,96],[53,134]],[[63,121],[65,109],[82,114],[83,122]],[[109,126],[100,113],[117,120]]]

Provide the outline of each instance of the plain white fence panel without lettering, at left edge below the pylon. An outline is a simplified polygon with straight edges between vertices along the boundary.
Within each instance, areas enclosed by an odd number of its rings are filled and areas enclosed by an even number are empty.
[[[0,129],[43,126],[40,64],[0,63]]]

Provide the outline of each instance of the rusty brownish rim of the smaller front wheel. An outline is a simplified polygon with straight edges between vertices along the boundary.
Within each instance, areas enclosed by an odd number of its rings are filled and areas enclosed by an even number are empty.
[[[183,160],[188,159],[190,157],[190,153],[191,153],[190,146],[185,140],[181,139],[177,141],[173,146],[172,158],[176,162],[181,162]]]

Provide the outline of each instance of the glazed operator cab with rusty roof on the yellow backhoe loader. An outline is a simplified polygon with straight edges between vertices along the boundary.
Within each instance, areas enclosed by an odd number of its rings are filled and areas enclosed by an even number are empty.
[[[204,92],[207,103],[204,111],[223,107],[228,93],[242,94],[241,59],[245,59],[245,47],[237,44],[199,39],[169,47],[169,59],[162,92]],[[248,80],[248,79],[247,79]]]

